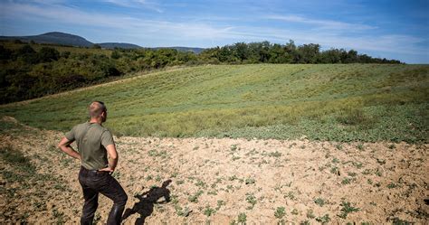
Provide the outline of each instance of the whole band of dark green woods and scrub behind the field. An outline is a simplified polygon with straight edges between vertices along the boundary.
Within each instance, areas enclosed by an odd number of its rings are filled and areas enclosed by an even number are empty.
[[[0,104],[119,79],[125,74],[176,65],[248,63],[400,63],[350,50],[321,52],[319,44],[238,42],[200,54],[174,49],[77,48],[24,42],[0,43]]]

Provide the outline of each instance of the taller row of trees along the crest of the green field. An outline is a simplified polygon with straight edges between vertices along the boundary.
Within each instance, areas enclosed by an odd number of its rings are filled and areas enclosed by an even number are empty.
[[[396,60],[373,58],[355,50],[320,50],[315,43],[297,46],[270,42],[237,42],[233,45],[207,49],[200,56],[210,63],[401,63]]]

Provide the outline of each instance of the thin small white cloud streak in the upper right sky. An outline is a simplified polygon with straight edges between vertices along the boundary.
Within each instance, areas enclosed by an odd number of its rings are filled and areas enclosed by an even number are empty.
[[[368,30],[368,29],[376,29],[376,26],[370,26],[366,24],[361,23],[345,23],[340,21],[334,21],[334,20],[317,20],[317,19],[310,19],[307,17],[303,17],[300,15],[268,15],[266,16],[266,19],[270,20],[280,20],[284,22],[290,22],[290,23],[305,23],[312,25],[318,29],[324,29],[324,30]]]

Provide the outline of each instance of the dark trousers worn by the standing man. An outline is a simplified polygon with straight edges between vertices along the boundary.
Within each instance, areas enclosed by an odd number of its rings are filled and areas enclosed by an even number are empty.
[[[85,199],[81,224],[92,224],[94,213],[99,206],[99,193],[113,201],[107,224],[120,224],[128,197],[118,181],[110,173],[91,171],[81,167],[79,183]]]

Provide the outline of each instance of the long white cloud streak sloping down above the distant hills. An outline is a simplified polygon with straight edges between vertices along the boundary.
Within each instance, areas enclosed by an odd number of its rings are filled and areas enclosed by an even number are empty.
[[[159,34],[170,37],[211,39],[228,38],[227,33],[231,26],[215,26],[198,22],[170,22],[160,20],[147,20],[123,14],[100,14],[84,12],[64,5],[27,5],[6,4],[2,6],[5,14],[13,17],[21,14],[30,18],[53,20],[57,23],[71,23],[85,26],[113,28],[121,33],[156,37]]]

